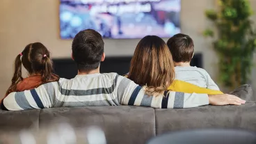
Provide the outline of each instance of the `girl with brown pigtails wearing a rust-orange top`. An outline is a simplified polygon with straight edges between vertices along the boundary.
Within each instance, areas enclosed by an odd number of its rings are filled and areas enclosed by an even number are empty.
[[[27,70],[29,77],[22,77],[22,65]],[[22,53],[15,59],[15,72],[12,84],[6,91],[6,96],[12,92],[31,90],[44,83],[58,81],[58,79],[59,77],[53,73],[48,49],[40,42],[31,43],[26,45]]]

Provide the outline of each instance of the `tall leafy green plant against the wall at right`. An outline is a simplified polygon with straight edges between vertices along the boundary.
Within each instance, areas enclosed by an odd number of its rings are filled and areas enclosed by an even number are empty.
[[[248,83],[253,67],[256,33],[250,16],[253,11],[248,0],[218,0],[218,10],[206,10],[205,15],[214,23],[204,35],[213,39],[219,58],[219,78],[227,88]]]

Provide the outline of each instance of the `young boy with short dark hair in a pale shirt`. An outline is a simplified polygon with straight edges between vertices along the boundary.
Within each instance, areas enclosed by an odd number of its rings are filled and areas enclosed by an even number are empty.
[[[194,54],[193,40],[189,35],[178,33],[167,42],[175,63],[175,79],[186,81],[202,88],[220,90],[206,70],[191,67],[190,62]]]

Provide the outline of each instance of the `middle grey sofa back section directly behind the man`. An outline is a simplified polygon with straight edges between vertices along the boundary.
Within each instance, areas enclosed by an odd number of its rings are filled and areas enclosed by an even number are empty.
[[[91,106],[42,109],[40,127],[51,127],[61,122],[67,122],[74,128],[101,127],[107,143],[145,143],[155,136],[154,109],[146,107]]]

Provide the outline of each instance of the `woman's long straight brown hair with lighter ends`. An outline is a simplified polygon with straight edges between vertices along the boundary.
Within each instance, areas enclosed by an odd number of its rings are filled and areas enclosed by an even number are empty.
[[[128,78],[145,86],[146,95],[162,95],[173,83],[173,58],[166,42],[156,35],[147,35],[134,51]]]

